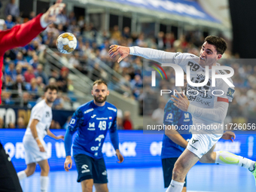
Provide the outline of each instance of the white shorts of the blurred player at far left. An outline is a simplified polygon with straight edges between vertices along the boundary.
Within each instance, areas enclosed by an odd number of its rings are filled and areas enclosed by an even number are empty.
[[[41,144],[44,146],[45,152],[41,152],[38,148],[38,144],[32,136],[23,137],[23,145],[25,149],[25,162],[26,165],[29,163],[37,163],[41,160],[47,160],[46,145],[43,139],[40,139]]]

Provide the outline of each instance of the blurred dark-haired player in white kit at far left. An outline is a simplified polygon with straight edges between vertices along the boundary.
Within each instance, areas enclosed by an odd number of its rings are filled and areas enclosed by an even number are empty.
[[[56,97],[57,87],[47,85],[44,90],[44,99],[32,108],[29,124],[23,137],[27,167],[24,171],[17,173],[21,181],[35,172],[35,166],[38,163],[41,168],[41,192],[47,191],[50,170],[44,137],[64,139],[64,136],[54,136],[49,130],[53,118],[51,108]]]

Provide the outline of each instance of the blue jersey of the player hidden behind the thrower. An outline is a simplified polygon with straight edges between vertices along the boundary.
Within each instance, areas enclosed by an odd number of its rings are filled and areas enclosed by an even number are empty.
[[[180,133],[185,140],[190,139],[192,136],[191,133],[189,132],[189,129],[187,128],[185,129],[184,127],[186,125],[189,127],[190,125],[193,124],[191,114],[185,111],[181,111],[181,109],[173,105],[172,100],[169,100],[169,102],[166,103],[166,107],[164,108],[163,123],[166,126],[177,125],[178,133]],[[181,129],[184,129],[184,130],[181,130]],[[184,148],[175,144],[175,142],[172,142],[172,140],[169,139],[168,136],[163,135],[163,145],[162,145],[162,153],[161,153],[162,159],[179,157],[183,151],[184,151]]]

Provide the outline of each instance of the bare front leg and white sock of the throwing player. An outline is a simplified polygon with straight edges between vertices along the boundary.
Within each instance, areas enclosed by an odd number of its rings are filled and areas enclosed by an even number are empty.
[[[166,192],[181,192],[187,172],[197,163],[198,160],[199,157],[186,148],[181,156],[178,157],[178,160],[174,165],[172,181]]]

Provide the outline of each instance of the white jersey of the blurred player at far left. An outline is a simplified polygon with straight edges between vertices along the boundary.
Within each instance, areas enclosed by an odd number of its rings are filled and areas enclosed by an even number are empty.
[[[31,116],[29,119],[29,124],[26,128],[25,136],[32,136],[32,132],[30,130],[30,124],[33,119],[39,120],[39,122],[36,125],[36,130],[38,132],[38,137],[40,139],[44,139],[44,136],[47,135],[47,130],[50,128],[50,123],[52,121],[53,114],[51,111],[51,108],[47,105],[45,100],[41,100],[41,102],[38,102],[31,111]]]

